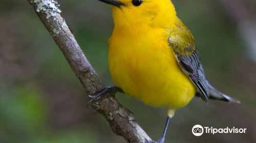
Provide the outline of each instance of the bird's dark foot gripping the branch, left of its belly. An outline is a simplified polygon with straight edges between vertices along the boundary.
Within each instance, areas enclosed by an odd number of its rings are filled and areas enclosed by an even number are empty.
[[[100,90],[93,91],[89,94],[89,98],[91,98],[90,102],[87,104],[87,106],[93,104],[97,100],[108,97],[112,94],[115,94],[117,91],[122,91],[119,87],[116,86],[107,86],[104,88],[101,88]]]

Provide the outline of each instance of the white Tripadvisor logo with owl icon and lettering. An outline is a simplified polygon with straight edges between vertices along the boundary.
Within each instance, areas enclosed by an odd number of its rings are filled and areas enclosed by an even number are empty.
[[[246,133],[246,128],[213,128],[213,127],[202,127],[201,125],[195,125],[192,128],[192,133],[195,136],[201,136],[203,133],[206,134],[216,134],[216,133],[225,133],[225,134],[238,134],[238,133]]]

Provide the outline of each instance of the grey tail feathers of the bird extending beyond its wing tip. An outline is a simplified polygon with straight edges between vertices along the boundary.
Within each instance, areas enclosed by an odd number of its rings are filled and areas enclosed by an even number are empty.
[[[209,89],[209,99],[212,100],[222,100],[229,103],[240,103],[239,100],[233,99],[223,93],[221,93],[219,90],[215,89],[213,86],[211,86],[208,82],[208,89]]]

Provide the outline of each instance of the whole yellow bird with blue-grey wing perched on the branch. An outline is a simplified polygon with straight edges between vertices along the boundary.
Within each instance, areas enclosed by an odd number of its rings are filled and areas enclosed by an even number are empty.
[[[197,95],[239,103],[205,79],[194,37],[177,17],[170,0],[99,0],[113,10],[109,39],[109,67],[117,86],[98,91],[90,104],[106,92],[121,91],[146,105],[167,107],[162,138],[177,109]]]

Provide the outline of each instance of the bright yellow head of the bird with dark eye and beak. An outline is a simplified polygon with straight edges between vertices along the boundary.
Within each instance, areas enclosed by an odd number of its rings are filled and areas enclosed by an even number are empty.
[[[172,25],[177,20],[170,0],[99,0],[111,5],[115,27]]]

